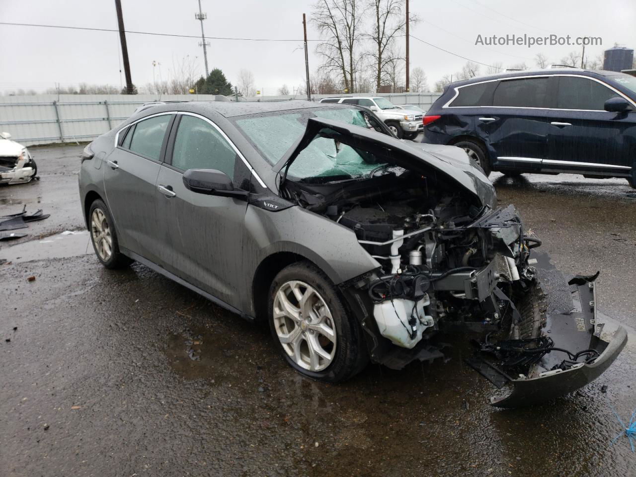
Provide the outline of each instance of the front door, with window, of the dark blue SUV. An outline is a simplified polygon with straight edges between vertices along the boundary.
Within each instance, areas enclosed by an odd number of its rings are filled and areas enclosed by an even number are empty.
[[[625,174],[633,163],[636,113],[609,113],[605,101],[619,96],[602,81],[586,76],[557,76],[555,109],[548,111],[548,158],[544,169]],[[630,151],[631,149],[631,151]]]

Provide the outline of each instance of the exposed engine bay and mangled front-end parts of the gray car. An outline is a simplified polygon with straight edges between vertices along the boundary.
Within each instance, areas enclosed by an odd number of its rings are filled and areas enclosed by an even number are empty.
[[[582,366],[594,366],[605,350],[607,343],[598,333],[593,336],[592,315],[592,344],[564,338],[563,345],[543,332],[546,303],[537,260],[530,258],[541,241],[526,234],[513,205],[476,205],[451,184],[401,167],[386,167],[347,188],[342,183],[288,187],[303,207],[356,233],[380,263],[350,284],[373,317],[373,326],[368,320],[363,326],[384,338],[370,346],[379,363],[399,369],[415,359],[443,358],[435,335],[453,329],[476,333],[475,354],[467,363],[500,389],[512,384],[515,391],[508,398],[493,397],[492,404],[515,407],[580,387],[576,378],[558,380],[552,392],[537,394],[542,386],[533,383],[563,371],[583,372]],[[585,282],[589,289],[593,279]],[[518,391],[528,383],[534,386],[530,391]]]

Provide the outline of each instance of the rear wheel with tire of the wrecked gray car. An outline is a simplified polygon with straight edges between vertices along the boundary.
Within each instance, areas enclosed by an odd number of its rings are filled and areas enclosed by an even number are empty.
[[[88,233],[97,259],[106,268],[125,268],[132,260],[119,249],[113,216],[102,200],[95,200],[88,209]]]

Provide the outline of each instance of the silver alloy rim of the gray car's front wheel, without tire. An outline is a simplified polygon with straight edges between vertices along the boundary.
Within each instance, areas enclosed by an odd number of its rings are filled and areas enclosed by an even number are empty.
[[[301,368],[322,371],[336,353],[336,326],[324,298],[300,280],[285,282],[273,300],[273,322],[280,344]]]

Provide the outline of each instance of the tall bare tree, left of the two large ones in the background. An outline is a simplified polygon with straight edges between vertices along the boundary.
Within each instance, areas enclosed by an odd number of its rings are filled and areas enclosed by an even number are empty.
[[[356,73],[360,55],[356,52],[361,15],[361,0],[319,0],[314,4],[312,22],[322,38],[316,47],[322,67],[337,73],[348,92],[356,90]]]

